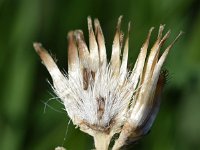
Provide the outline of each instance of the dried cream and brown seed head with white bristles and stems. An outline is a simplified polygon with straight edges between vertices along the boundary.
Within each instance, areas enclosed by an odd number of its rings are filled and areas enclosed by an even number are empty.
[[[97,150],[118,150],[127,141],[136,141],[151,128],[160,106],[160,95],[165,83],[161,67],[169,50],[181,33],[160,54],[160,48],[170,35],[158,37],[149,55],[147,49],[154,28],[149,30],[133,69],[127,68],[129,31],[123,46],[120,16],[112,46],[110,61],[107,60],[103,32],[98,19],[93,23],[88,17],[89,47],[81,30],[68,33],[68,72],[63,74],[55,61],[40,43],[34,48],[42,59],[53,80],[53,90],[62,100],[65,109],[80,130],[94,137]],[[121,52],[123,49],[123,52]],[[122,58],[121,58],[122,55]]]

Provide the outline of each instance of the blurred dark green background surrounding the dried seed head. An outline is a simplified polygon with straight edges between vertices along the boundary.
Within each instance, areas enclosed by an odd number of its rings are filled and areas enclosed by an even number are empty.
[[[87,16],[98,17],[110,53],[121,14],[124,31],[132,22],[130,63],[151,26],[154,37],[160,24],[172,29],[167,44],[185,32],[165,63],[169,78],[160,113],[134,149],[200,149],[199,0],[0,0],[0,150],[94,148],[92,138],[69,123],[59,101],[51,100],[51,78],[32,43],[42,42],[66,69],[67,32],[78,28],[87,34]]]

